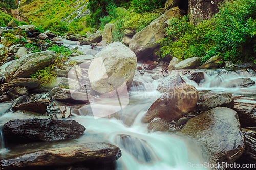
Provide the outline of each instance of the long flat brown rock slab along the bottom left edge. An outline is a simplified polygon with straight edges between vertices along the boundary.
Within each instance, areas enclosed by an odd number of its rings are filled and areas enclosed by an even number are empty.
[[[74,164],[111,162],[121,157],[118,147],[104,142],[84,143],[69,147],[42,150],[0,161],[1,169],[42,168]]]

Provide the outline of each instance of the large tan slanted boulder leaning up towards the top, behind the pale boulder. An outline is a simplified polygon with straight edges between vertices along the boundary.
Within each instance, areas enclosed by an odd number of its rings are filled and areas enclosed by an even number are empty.
[[[168,20],[178,16],[180,9],[172,8],[133,36],[129,48],[136,54],[138,61],[154,57],[155,49],[160,46],[156,42],[164,38],[163,30],[168,27]]]

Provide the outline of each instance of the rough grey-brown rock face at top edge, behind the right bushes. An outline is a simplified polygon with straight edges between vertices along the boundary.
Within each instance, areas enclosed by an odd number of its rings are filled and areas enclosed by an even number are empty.
[[[219,12],[220,3],[224,0],[188,0],[188,14],[193,22],[198,19],[210,19],[212,15]]]

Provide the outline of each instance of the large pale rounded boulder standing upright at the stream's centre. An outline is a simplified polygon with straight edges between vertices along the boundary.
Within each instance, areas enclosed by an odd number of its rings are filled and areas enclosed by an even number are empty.
[[[95,56],[88,69],[93,90],[105,94],[125,83],[129,88],[135,74],[136,63],[134,52],[121,42],[106,46]]]

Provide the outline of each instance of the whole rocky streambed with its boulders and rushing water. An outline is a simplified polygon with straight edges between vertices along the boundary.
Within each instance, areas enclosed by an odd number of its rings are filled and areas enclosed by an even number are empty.
[[[81,41],[83,55],[69,57],[77,65],[54,68],[48,86],[29,75],[57,53],[11,47],[22,55],[0,67],[2,169],[255,163],[253,63],[224,65],[214,56],[201,66],[197,57],[141,64],[130,48],[101,36]],[[78,47],[74,37],[56,43]]]

